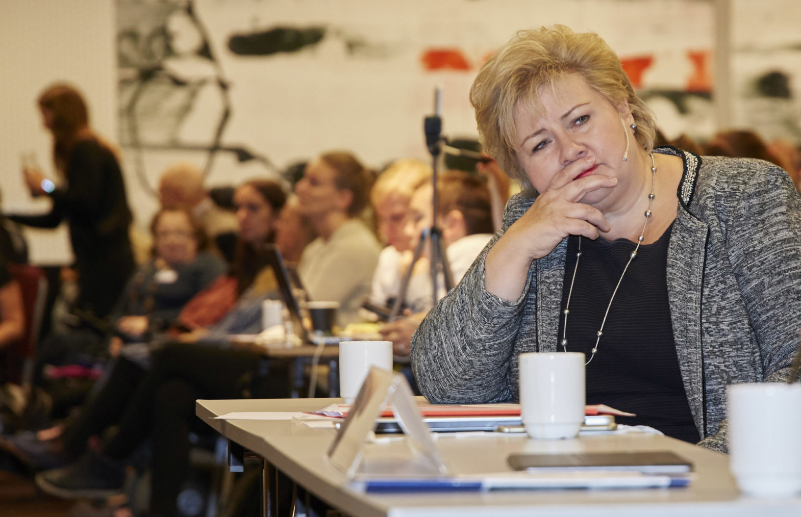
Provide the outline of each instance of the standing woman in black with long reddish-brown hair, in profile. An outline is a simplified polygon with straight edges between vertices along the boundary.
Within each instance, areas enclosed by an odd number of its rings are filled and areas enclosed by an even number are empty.
[[[86,102],[71,86],[48,87],[38,100],[44,126],[53,134],[53,161],[63,182],[56,186],[41,170],[26,168],[34,196],[53,200],[49,214],[9,218],[27,226],[54,228],[67,219],[78,271],[83,311],[104,317],[134,271],[128,229],[131,209],[114,150],[89,126]]]

